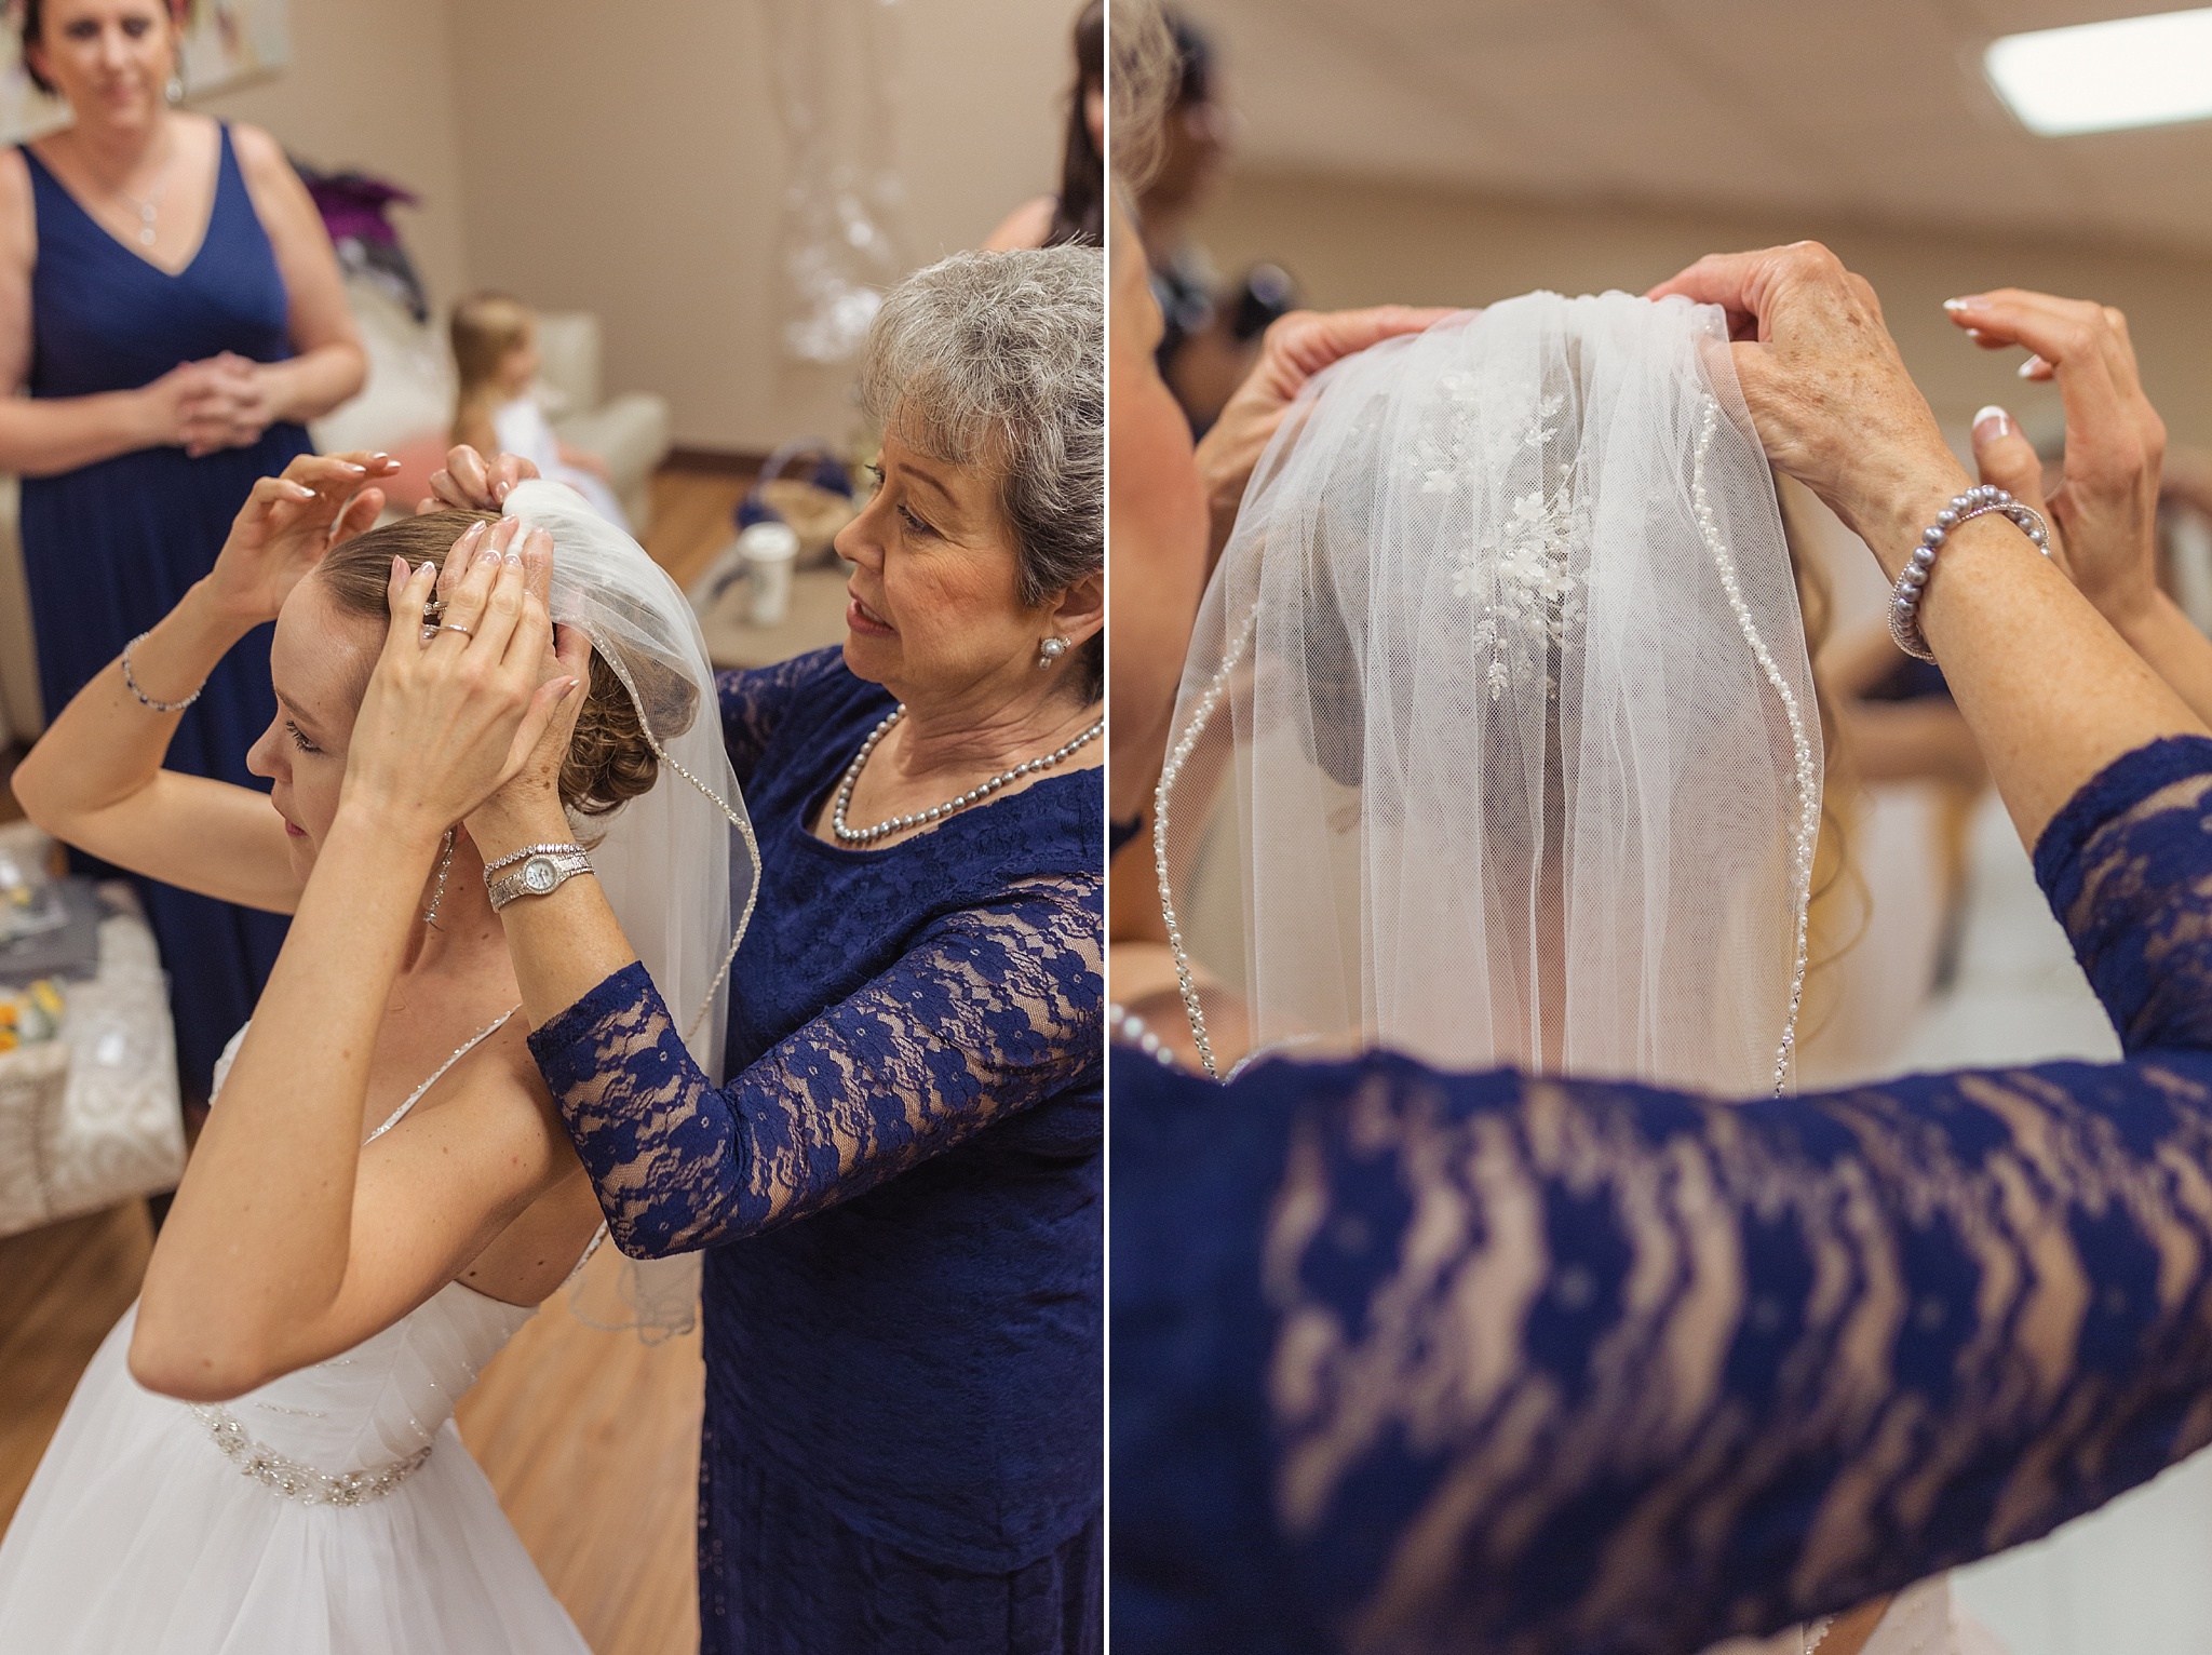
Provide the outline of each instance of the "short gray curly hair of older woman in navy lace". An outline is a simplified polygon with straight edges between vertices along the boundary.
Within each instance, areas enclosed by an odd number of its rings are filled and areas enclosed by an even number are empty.
[[[1024,604],[1106,566],[1106,261],[1097,248],[956,252],[883,299],[860,403],[933,460],[998,473]],[[1104,635],[1075,681],[1106,688]]]

